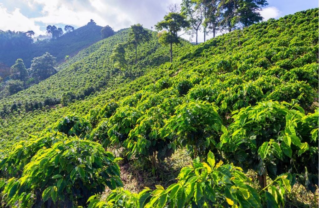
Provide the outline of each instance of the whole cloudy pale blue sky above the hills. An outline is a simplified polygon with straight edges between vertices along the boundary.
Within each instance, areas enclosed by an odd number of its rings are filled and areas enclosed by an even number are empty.
[[[114,30],[140,23],[151,29],[163,19],[170,4],[182,0],[0,0],[0,30],[28,31],[44,35],[46,26],[54,24],[75,28],[93,19],[98,25],[110,25]],[[263,20],[279,18],[300,10],[318,7],[317,0],[268,0],[260,14]],[[154,28],[153,28],[154,30]],[[183,35],[182,38],[191,37]],[[211,38],[211,35],[206,36]],[[203,42],[202,32],[198,42]],[[195,41],[193,38],[192,41]]]

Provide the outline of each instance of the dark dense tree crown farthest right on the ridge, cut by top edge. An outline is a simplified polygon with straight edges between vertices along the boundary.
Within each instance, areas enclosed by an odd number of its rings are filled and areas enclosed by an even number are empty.
[[[223,0],[222,26],[232,31],[236,25],[242,24],[247,27],[263,20],[259,11],[267,6],[266,0]]]

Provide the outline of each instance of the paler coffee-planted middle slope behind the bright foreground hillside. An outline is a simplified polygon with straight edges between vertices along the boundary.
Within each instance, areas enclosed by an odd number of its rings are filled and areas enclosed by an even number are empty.
[[[62,64],[55,75],[3,99],[0,114],[5,115],[18,108],[30,111],[60,104],[63,96],[68,102],[83,99],[117,79],[134,79],[145,73],[147,68],[167,61],[166,47],[158,43],[156,33],[153,33],[150,42],[138,47],[139,61],[136,66],[132,64],[134,53],[127,51],[129,66],[123,74],[119,74],[110,62],[109,55],[117,43],[125,42],[127,38],[128,29],[80,51],[67,63]]]

